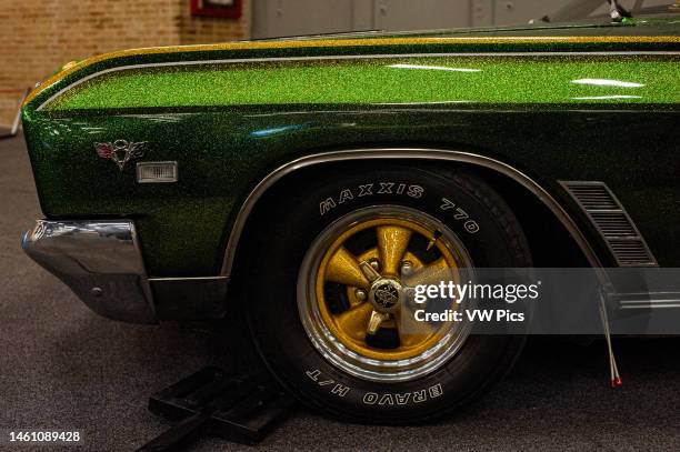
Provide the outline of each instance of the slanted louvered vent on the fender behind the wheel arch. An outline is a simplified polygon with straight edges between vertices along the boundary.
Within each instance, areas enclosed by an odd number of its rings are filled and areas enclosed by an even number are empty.
[[[653,267],[657,260],[623,205],[603,182],[560,182],[602,235],[619,267]]]

